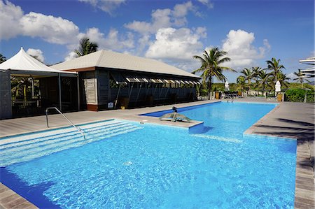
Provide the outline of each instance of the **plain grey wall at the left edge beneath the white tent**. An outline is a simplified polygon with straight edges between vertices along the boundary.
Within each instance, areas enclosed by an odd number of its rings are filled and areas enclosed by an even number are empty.
[[[10,71],[0,70],[0,120],[12,117]]]

